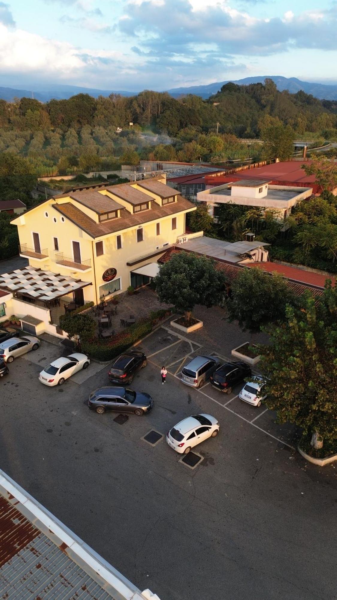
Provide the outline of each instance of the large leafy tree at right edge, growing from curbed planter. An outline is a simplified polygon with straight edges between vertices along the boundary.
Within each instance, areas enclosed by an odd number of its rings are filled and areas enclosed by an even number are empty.
[[[328,280],[323,297],[303,300],[302,310],[288,305],[285,321],[266,330],[272,343],[259,346],[260,365],[267,407],[321,448],[337,440],[337,287]]]

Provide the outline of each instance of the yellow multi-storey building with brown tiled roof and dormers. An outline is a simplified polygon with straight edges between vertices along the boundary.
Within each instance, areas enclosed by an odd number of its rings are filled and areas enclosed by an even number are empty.
[[[101,298],[124,292],[130,285],[136,288],[149,283],[157,274],[161,254],[184,237],[186,213],[194,210],[191,202],[166,185],[166,176],[161,176],[71,191],[14,218],[20,256],[28,257],[29,267],[49,272],[49,277],[58,275],[57,281],[52,278],[46,283],[53,294],[35,286],[34,304],[48,307],[47,298],[56,298],[57,286],[64,293],[62,277],[67,277],[71,299],[77,305],[98,304]],[[0,287],[4,283],[5,288],[17,292],[17,298],[29,301],[25,286],[11,287],[7,278],[0,281]]]

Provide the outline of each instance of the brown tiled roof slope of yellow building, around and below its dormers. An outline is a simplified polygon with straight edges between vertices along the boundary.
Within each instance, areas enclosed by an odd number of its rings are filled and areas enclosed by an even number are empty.
[[[61,214],[73,221],[73,223],[80,227],[80,229],[83,229],[92,238],[99,238],[103,235],[109,235],[109,233],[116,233],[124,229],[129,229],[129,227],[143,225],[149,223],[149,221],[155,221],[156,219],[169,217],[170,215],[195,208],[192,202],[189,202],[189,200],[186,200],[182,196],[177,196],[177,202],[172,202],[171,204],[159,206],[157,203],[152,202],[151,206],[152,208],[148,211],[137,212],[136,214],[131,214],[124,208],[121,210],[119,218],[104,221],[104,223],[95,223],[93,219],[70,202],[53,204],[53,208],[56,211],[61,212]]]

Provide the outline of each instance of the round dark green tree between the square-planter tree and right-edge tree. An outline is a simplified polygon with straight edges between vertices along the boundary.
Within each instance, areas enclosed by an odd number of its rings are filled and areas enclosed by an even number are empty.
[[[261,327],[285,318],[286,304],[297,305],[296,296],[281,275],[260,268],[244,268],[231,284],[226,300],[229,322],[238,321],[251,336]]]

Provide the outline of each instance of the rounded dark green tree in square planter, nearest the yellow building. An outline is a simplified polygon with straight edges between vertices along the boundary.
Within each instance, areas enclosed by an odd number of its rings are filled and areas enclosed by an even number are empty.
[[[222,301],[225,277],[213,260],[182,251],[161,266],[154,284],[160,302],[173,304],[189,322],[195,304],[210,308]]]

